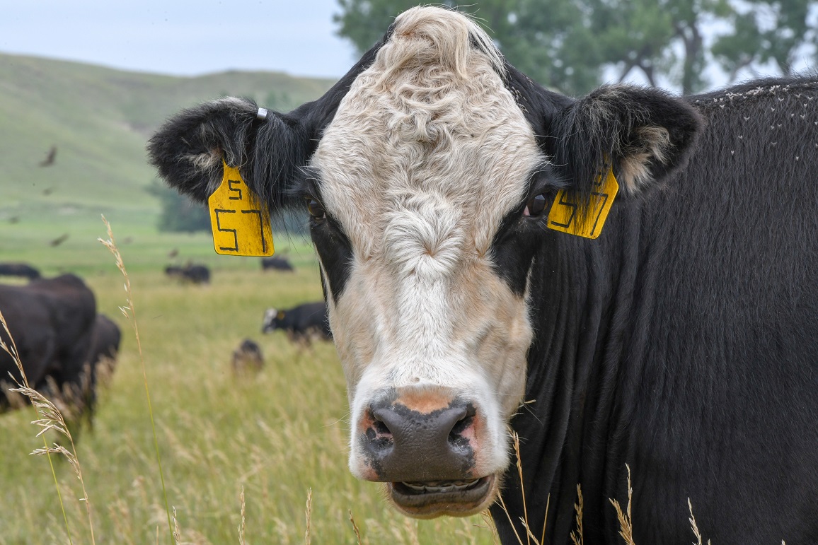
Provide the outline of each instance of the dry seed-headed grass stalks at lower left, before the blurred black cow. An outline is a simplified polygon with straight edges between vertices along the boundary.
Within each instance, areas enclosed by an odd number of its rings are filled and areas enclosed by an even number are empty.
[[[17,351],[16,342],[14,342],[14,337],[11,336],[11,331],[8,329],[8,324],[6,322],[6,318],[0,312],[0,323],[2,323],[2,328],[6,332],[7,337],[9,338],[10,344],[7,344],[0,338],[0,348],[6,351],[8,355],[11,356],[11,359],[14,360],[14,363],[17,366],[17,369],[20,371],[20,377],[23,378],[23,384],[15,382],[17,384],[16,388],[11,388],[10,391],[16,394],[25,395],[31,401],[31,404],[34,406],[34,410],[37,412],[38,418],[31,422],[35,426],[42,428],[37,436],[43,437],[43,448],[42,449],[34,449],[32,454],[37,456],[45,455],[48,458],[48,466],[51,467],[52,477],[54,479],[54,487],[56,489],[57,499],[60,501],[60,509],[62,511],[62,518],[65,522],[65,534],[68,536],[68,541],[73,545],[74,540],[71,538],[71,530],[68,525],[68,516],[65,514],[65,503],[62,501],[62,493],[60,492],[60,483],[56,478],[56,471],[54,469],[54,461],[52,460],[52,454],[61,454],[65,456],[66,459],[71,464],[71,467],[74,469],[74,474],[79,478],[79,483],[82,485],[83,488],[83,497],[80,498],[79,501],[84,502],[85,504],[85,511],[88,515],[88,529],[91,532],[91,543],[96,543],[94,540],[94,525],[93,525],[93,518],[91,515],[91,502],[88,501],[88,492],[85,490],[85,480],[83,479],[83,471],[82,467],[79,465],[79,459],[77,458],[77,448],[74,446],[74,437],[71,436],[71,432],[69,431],[68,425],[65,423],[65,418],[63,418],[60,409],[56,408],[56,405],[52,403],[52,401],[48,400],[44,395],[39,393],[38,391],[34,390],[29,384],[29,377],[25,376],[25,369],[23,369],[23,362],[20,361],[20,352]],[[55,390],[56,391],[56,390]],[[49,430],[56,431],[57,433],[61,434],[68,438],[71,449],[65,449],[65,447],[61,446],[60,444],[54,444],[54,446],[49,447],[48,442],[46,440],[45,433]]]

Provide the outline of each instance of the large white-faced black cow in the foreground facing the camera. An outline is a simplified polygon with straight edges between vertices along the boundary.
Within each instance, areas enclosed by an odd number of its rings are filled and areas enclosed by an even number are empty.
[[[618,543],[632,485],[636,543],[689,540],[688,498],[712,543],[818,543],[818,78],[574,98],[424,7],[317,101],[210,101],[148,149],[199,201],[224,159],[306,206],[349,467],[398,510],[570,543],[579,487]]]

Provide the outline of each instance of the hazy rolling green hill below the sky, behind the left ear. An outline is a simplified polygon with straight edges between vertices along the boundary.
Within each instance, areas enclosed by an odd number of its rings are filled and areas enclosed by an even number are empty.
[[[180,78],[11,55],[0,55],[0,74],[0,235],[86,218],[96,227],[100,212],[154,226],[145,143],[164,118],[225,95],[287,111],[333,83],[262,72]],[[38,166],[52,146],[55,163]]]

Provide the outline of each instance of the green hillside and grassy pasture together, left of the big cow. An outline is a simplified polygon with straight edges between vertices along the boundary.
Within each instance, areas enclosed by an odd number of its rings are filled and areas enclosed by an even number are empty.
[[[182,107],[227,94],[288,110],[320,96],[328,80],[228,73],[171,78],[63,61],[0,55],[0,261],[25,261],[43,275],[83,276],[98,309],[123,329],[113,382],[101,394],[93,433],[78,458],[88,492],[56,460],[66,530],[33,409],[0,415],[0,545],[171,543],[155,459],[142,363],[128,320],[124,279],[106,238],[114,229],[133,303],[155,414],[168,502],[181,543],[303,543],[311,491],[312,543],[492,543],[480,517],[408,520],[380,485],[347,468],[344,377],[331,344],[296,349],[283,333],[260,333],[268,306],[321,297],[317,264],[303,239],[276,238],[294,274],[263,273],[258,258],[213,252],[209,234],[160,234],[159,203],[146,191],[155,173],[145,142]],[[51,145],[56,163],[38,167]],[[173,255],[173,257],[171,257]],[[209,286],[180,285],[164,266],[210,266]],[[0,279],[2,282],[20,280]],[[230,372],[245,338],[266,367],[252,380]],[[50,436],[49,440],[56,440]]]

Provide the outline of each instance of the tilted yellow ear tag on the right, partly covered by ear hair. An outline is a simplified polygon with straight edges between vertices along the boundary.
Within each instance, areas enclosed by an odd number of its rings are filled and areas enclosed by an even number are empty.
[[[613,198],[619,191],[619,184],[613,176],[613,170],[599,176],[591,192],[591,208],[585,221],[577,216],[577,204],[573,194],[566,190],[557,192],[551,210],[548,212],[548,228],[562,231],[569,235],[579,235],[587,239],[596,239],[602,232],[605,219],[611,210]]]

